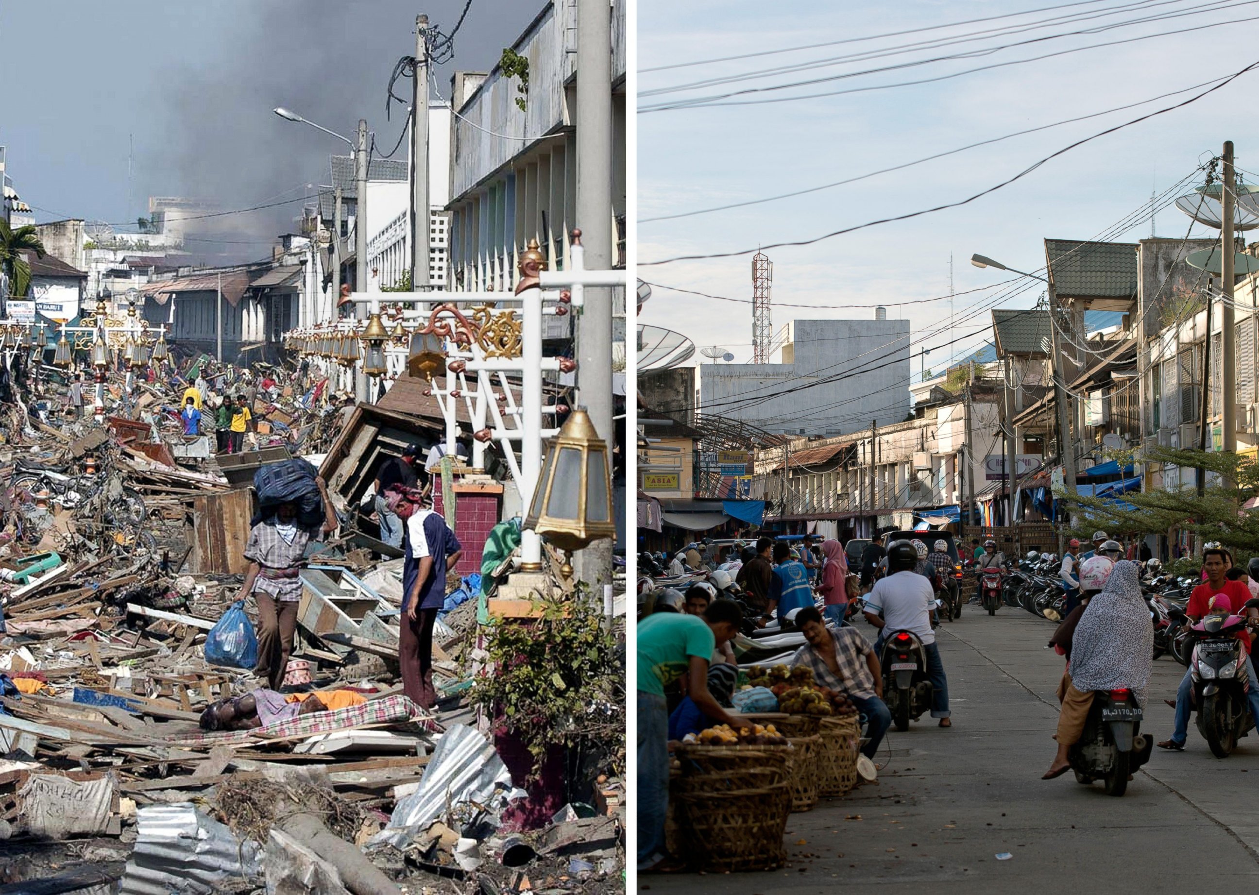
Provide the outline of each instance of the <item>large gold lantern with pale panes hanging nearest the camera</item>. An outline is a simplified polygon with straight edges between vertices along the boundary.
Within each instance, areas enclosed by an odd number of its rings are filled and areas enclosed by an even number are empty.
[[[569,553],[617,536],[608,443],[584,408],[575,408],[546,444],[525,527]]]

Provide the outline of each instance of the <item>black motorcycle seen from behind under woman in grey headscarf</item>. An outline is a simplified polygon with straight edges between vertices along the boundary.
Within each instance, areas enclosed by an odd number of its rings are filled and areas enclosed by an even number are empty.
[[[1102,690],[1069,754],[1078,783],[1102,780],[1107,796],[1123,796],[1128,777],[1149,760],[1155,740],[1141,733],[1142,710],[1131,690]]]

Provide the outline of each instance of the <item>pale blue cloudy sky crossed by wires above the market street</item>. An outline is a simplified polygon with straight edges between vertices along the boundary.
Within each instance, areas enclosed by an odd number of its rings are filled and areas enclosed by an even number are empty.
[[[747,54],[802,44],[1006,15],[1053,3],[915,0],[835,4],[799,0],[767,5],[744,0],[695,0],[685,4],[640,0],[640,106],[729,89],[643,96],[643,92],[661,87],[840,53],[961,35],[980,28],[1017,26],[1056,15],[1103,13],[1119,1],[1078,4],[1022,18],[875,42],[749,57]],[[1070,26],[1039,29],[966,47],[988,47],[1136,16],[1187,13],[1202,3],[1147,0],[1128,5],[1131,9],[1124,15],[1099,16]],[[1172,37],[1071,53],[938,83],[757,106],[661,112],[641,110],[640,220],[841,180],[1231,74],[1259,60],[1259,50],[1255,49],[1259,20],[1197,31],[1186,29],[1254,16],[1259,16],[1259,4],[1233,0],[1216,4],[1214,11],[1199,10],[1170,21],[1068,37],[977,59],[823,83],[808,88],[808,92],[933,77],[1073,47],[1178,31]],[[952,52],[957,49],[961,48]],[[799,77],[923,59],[939,53],[898,55],[802,76],[774,76],[735,87],[774,84]],[[713,65],[642,72],[715,57],[742,58]],[[997,258],[1016,268],[1035,269],[1044,264],[1044,238],[1095,237],[1148,201],[1152,189],[1162,191],[1172,186],[1201,161],[1217,155],[1222,142],[1230,138],[1236,145],[1239,167],[1256,171],[1250,180],[1259,181],[1259,123],[1246,112],[1256,89],[1259,69],[1186,108],[1073,150],[1022,180],[963,208],[859,230],[810,247],[768,250],[774,263],[773,297],[779,306],[773,316],[774,329],[792,317],[869,317],[872,316],[871,307],[884,302],[888,303],[889,316],[913,321],[915,339],[943,327],[943,332],[923,342],[933,347],[929,366],[939,364],[951,352],[958,356],[969,354],[991,330],[958,342],[954,349],[944,347],[944,342],[951,341],[947,335],[949,302],[925,301],[948,295],[951,254],[957,292],[990,286],[1007,276],[972,267],[972,253]],[[793,92],[805,91],[797,88],[782,93]],[[676,220],[643,222],[638,229],[638,258],[640,262],[650,262],[680,254],[755,248],[758,244],[807,238],[963,199],[1075,140],[1175,104],[1197,92],[1015,137],[806,196]],[[1190,186],[1182,190],[1188,191]],[[1161,211],[1156,223],[1160,237],[1175,238],[1183,237],[1190,224],[1188,218],[1175,209]],[[1113,238],[1136,242],[1149,234],[1151,220],[1146,217]],[[1207,230],[1195,227],[1192,234],[1207,235]],[[738,298],[750,298],[752,295],[750,256],[641,267],[638,276],[714,295]],[[1039,287],[1029,290],[1001,307],[1029,307],[1040,293]],[[954,300],[953,337],[991,322],[986,311],[966,318],[967,313],[990,300],[990,293],[983,292]],[[782,306],[788,302],[816,305],[821,310]],[[656,290],[643,308],[641,321],[677,330],[700,347],[721,345],[740,363],[750,360],[749,305]],[[915,357],[912,366],[917,375],[919,346],[913,350]]]

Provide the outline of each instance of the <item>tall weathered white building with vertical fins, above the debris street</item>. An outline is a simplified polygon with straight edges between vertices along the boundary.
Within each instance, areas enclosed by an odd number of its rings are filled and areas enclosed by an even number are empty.
[[[612,3],[613,261],[624,264],[626,4]],[[451,288],[511,290],[536,239],[550,269],[568,266],[577,210],[577,5],[545,3],[510,48],[529,60],[529,87],[500,67],[458,72],[451,123]],[[517,101],[522,101],[517,103]],[[521,108],[520,106],[524,106]],[[623,297],[621,313],[623,315]],[[614,336],[623,341],[623,332]]]

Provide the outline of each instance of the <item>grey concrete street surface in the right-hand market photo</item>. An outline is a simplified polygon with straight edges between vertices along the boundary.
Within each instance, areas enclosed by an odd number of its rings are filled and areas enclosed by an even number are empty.
[[[862,624],[862,633],[870,632]],[[939,629],[954,726],[924,716],[891,731],[876,785],[823,799],[787,823],[786,869],[735,876],[643,876],[640,889],[696,885],[757,895],[856,892],[1177,892],[1259,882],[1259,736],[1215,759],[1190,726],[1188,750],[1153,758],[1112,798],[1100,784],[1040,775],[1054,753],[1063,661],[1053,626],[1022,609],[967,607]],[[1171,733],[1183,668],[1155,662],[1144,730]],[[1255,785],[1255,789],[1250,789]],[[1012,853],[1005,861],[996,855]],[[1177,860],[1178,855],[1191,860]]]

